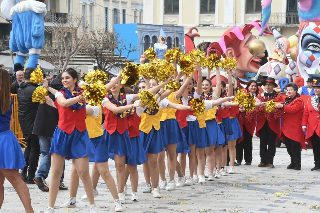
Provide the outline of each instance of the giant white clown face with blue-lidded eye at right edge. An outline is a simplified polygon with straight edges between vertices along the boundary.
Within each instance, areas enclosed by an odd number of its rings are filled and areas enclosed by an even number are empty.
[[[320,71],[320,22],[301,22],[297,49],[299,74],[305,80],[319,78]]]

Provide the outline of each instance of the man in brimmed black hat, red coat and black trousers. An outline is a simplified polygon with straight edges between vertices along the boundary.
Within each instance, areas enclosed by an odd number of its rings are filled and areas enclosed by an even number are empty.
[[[258,99],[265,104],[273,99],[275,102],[283,102],[283,98],[274,88],[278,87],[274,78],[267,78],[263,85],[266,91],[258,95]],[[256,136],[260,137],[260,164],[259,167],[274,168],[273,158],[276,155],[276,139],[280,137],[280,118],[275,121],[268,121],[267,118],[261,117],[257,122]],[[267,148],[268,145],[268,148]]]

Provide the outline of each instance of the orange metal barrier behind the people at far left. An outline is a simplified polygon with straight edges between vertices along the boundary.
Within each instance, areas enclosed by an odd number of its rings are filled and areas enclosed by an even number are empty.
[[[24,137],[21,131],[21,127],[19,124],[18,119],[18,98],[17,95],[11,94],[13,98],[13,104],[12,104],[12,114],[11,114],[11,122],[10,122],[10,129],[13,132],[13,134],[17,137],[19,143],[24,146],[26,146],[26,142],[24,141]]]

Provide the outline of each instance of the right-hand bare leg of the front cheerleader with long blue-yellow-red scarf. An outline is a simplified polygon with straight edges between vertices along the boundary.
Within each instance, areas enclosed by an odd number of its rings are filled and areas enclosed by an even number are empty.
[[[73,159],[76,171],[83,183],[90,205],[94,204],[93,185],[89,173],[89,156]],[[73,162],[72,162],[73,163]],[[70,183],[71,185],[71,183]]]

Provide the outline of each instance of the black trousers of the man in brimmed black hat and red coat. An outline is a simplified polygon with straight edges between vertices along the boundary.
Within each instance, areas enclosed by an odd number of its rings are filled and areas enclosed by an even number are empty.
[[[264,123],[259,133],[260,163],[273,164],[273,158],[276,155],[276,133],[270,129],[268,121]]]

